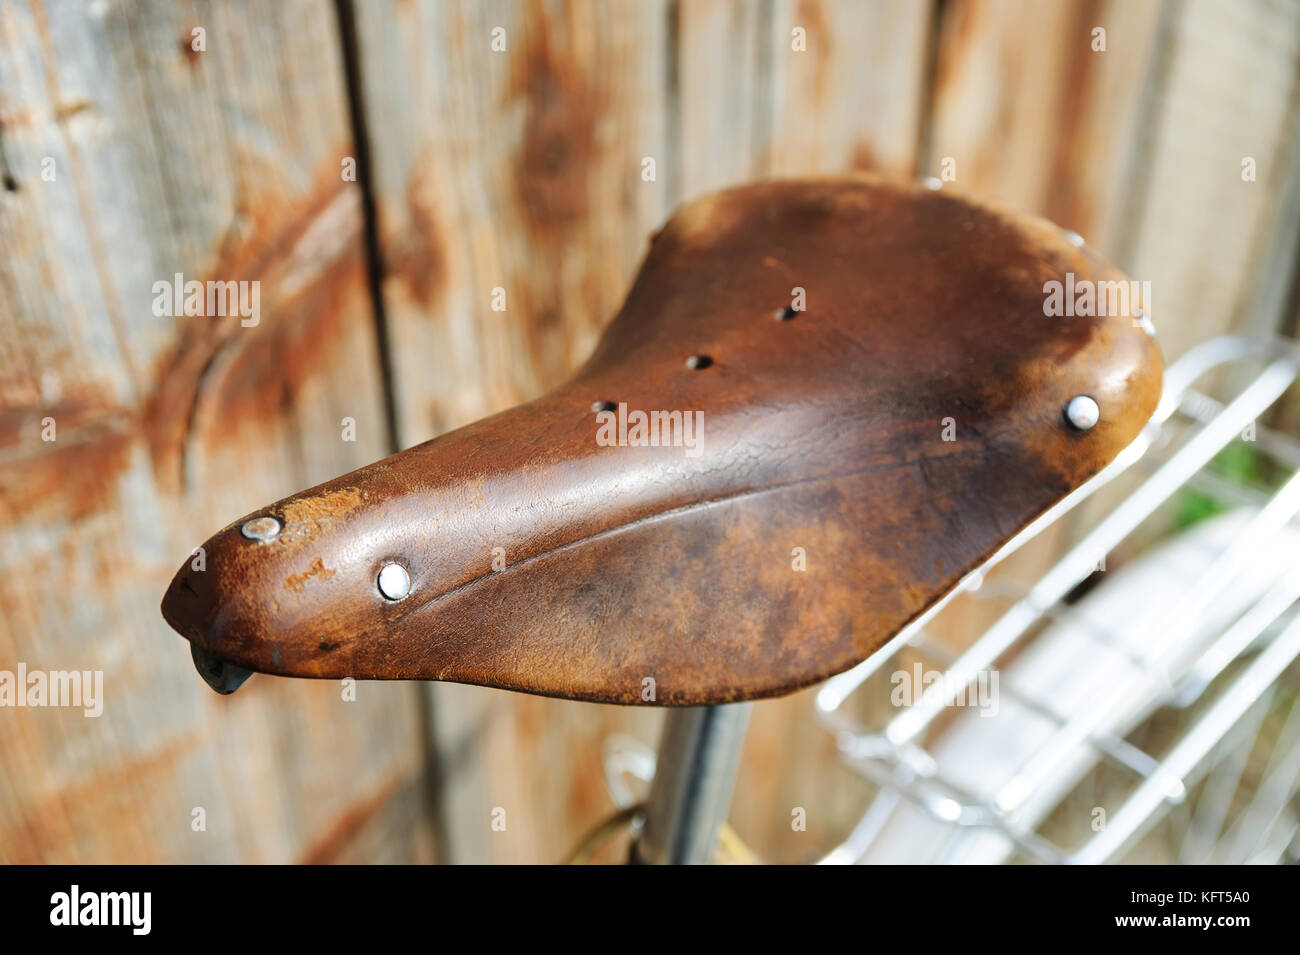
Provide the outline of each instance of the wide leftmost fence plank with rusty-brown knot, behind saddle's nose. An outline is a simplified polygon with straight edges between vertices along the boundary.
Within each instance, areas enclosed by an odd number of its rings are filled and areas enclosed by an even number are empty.
[[[429,858],[410,687],[228,703],[157,617],[214,524],[385,447],[334,14],[259,13],[0,10],[0,668],[105,698],[0,712],[4,861]],[[176,273],[260,321],[155,314]]]

